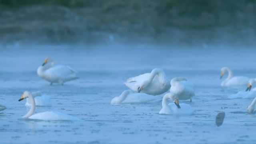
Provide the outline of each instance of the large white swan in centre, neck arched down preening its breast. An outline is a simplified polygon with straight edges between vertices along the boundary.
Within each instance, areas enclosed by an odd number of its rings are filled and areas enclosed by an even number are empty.
[[[163,94],[170,89],[170,80],[160,68],[155,68],[151,73],[128,78],[124,84],[134,92],[142,92],[154,96]]]

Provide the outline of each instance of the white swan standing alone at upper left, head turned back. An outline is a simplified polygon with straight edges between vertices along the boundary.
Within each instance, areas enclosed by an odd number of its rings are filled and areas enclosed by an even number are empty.
[[[78,72],[65,65],[54,65],[52,58],[46,58],[42,66],[37,69],[37,74],[41,78],[52,83],[64,84],[64,82],[75,80]]]

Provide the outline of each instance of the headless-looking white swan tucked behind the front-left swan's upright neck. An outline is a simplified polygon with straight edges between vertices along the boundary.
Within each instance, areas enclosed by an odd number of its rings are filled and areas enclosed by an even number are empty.
[[[41,92],[31,92],[35,99],[36,106],[52,106],[50,96],[43,95]],[[29,98],[26,99],[27,102],[25,106],[31,106],[31,101]]]

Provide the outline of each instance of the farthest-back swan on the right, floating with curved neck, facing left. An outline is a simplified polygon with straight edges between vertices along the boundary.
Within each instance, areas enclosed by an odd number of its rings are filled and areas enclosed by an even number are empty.
[[[246,76],[233,76],[233,72],[227,68],[223,67],[220,70],[220,78],[228,72],[228,78],[226,78],[220,85],[221,86],[241,86],[241,85],[246,85],[247,82],[250,80]]]

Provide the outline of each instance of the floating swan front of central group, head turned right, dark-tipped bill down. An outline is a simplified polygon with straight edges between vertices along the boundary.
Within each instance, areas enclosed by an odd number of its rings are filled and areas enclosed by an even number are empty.
[[[194,113],[194,108],[192,108],[189,104],[179,104],[178,98],[175,97],[175,102],[168,104],[168,99],[174,97],[174,93],[167,93],[164,95],[162,100],[162,109],[159,114],[175,114],[175,115],[190,115]]]

